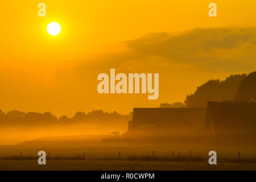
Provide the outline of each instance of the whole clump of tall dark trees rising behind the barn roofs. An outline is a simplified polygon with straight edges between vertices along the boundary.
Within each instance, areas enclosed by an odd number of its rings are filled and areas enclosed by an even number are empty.
[[[209,80],[197,87],[195,93],[185,99],[186,107],[205,107],[207,101],[223,100],[249,102],[256,97],[256,71],[241,75],[230,75],[225,80]]]

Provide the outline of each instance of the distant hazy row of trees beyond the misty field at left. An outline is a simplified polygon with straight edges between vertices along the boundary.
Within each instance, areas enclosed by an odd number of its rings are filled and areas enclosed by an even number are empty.
[[[86,122],[128,122],[131,120],[132,113],[122,115],[113,111],[112,113],[104,112],[103,110],[93,110],[87,114],[83,111],[78,111],[75,115],[69,118],[67,115],[62,115],[57,118],[55,115],[49,112],[36,113],[13,110],[8,113],[4,113],[0,110],[0,126],[61,126],[70,125],[75,123],[86,123]]]

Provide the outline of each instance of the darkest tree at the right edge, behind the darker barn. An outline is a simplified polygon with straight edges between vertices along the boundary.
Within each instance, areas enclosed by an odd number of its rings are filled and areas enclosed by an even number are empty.
[[[234,98],[237,101],[248,102],[253,97],[256,97],[256,71],[243,78]]]

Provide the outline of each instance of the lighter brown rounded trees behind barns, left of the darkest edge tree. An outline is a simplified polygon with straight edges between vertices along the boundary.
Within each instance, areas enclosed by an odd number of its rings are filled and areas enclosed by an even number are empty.
[[[187,107],[206,107],[207,101],[234,100],[238,85],[246,77],[242,75],[230,75],[224,81],[209,80],[197,87],[195,93],[185,99]]]

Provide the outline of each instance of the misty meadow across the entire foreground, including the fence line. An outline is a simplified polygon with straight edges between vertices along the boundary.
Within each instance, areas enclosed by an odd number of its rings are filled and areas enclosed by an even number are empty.
[[[38,151],[46,151],[46,165]],[[209,165],[208,152],[217,152]],[[55,137],[0,146],[0,170],[256,170],[254,144],[102,142],[101,137]]]

